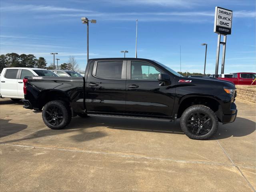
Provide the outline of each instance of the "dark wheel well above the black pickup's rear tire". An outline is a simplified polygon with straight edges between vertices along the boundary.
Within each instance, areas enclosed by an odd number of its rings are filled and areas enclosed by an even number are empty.
[[[68,105],[70,102],[68,99],[68,96],[63,92],[60,92],[60,91],[43,92],[38,98],[39,109],[41,110],[46,103],[53,100],[61,100],[67,103]]]

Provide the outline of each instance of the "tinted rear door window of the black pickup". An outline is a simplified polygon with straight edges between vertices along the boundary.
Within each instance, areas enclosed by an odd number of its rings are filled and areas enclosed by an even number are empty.
[[[96,77],[103,79],[121,79],[123,61],[99,61],[96,67]]]

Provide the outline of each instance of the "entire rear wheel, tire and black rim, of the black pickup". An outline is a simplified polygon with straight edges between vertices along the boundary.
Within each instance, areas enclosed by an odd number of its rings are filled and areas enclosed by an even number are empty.
[[[54,100],[46,103],[42,111],[44,124],[51,129],[63,129],[71,121],[71,110],[62,101]]]

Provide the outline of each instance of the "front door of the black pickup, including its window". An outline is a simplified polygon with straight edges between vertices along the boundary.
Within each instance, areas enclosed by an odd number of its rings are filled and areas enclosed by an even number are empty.
[[[153,64],[127,62],[126,113],[142,116],[170,117],[174,105],[175,88],[159,86],[158,74],[163,73]]]

